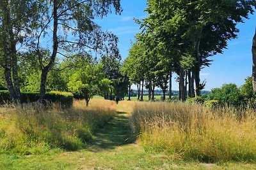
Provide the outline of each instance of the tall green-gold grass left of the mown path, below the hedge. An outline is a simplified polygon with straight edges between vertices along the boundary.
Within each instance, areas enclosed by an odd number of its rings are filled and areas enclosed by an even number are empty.
[[[95,102],[96,103],[96,102]],[[45,153],[52,149],[79,150],[93,138],[93,132],[115,114],[115,106],[85,109],[75,101],[70,109],[52,105],[48,110],[29,104],[0,108],[0,152]]]

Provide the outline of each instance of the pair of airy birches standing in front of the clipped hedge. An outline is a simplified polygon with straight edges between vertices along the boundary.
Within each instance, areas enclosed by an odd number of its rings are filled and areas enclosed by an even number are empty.
[[[22,55],[31,55],[31,66],[40,70],[40,102],[44,103],[47,76],[57,56],[93,53],[120,58],[115,35],[102,31],[93,20],[115,9],[120,0],[3,0],[0,1],[0,64],[7,88],[15,103],[20,102],[19,71]],[[24,69],[24,70],[26,70]],[[38,76],[38,73],[33,73]]]

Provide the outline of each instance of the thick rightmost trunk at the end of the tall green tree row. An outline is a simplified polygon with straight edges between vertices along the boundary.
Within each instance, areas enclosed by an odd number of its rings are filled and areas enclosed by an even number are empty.
[[[200,53],[199,53],[199,47],[200,47],[200,38],[196,39],[195,43],[195,55],[196,55],[196,69],[194,71],[195,76],[195,84],[196,84],[196,90],[195,90],[195,96],[201,96],[200,94]]]

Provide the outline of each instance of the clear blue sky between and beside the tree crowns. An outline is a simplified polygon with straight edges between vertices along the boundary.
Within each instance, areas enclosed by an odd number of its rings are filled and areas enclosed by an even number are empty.
[[[102,29],[113,32],[119,38],[119,49],[124,60],[131,42],[134,41],[136,33],[140,32],[140,25],[133,18],[142,19],[147,17],[145,8],[146,0],[121,0],[124,11],[121,15],[108,15],[97,23]],[[224,83],[236,83],[239,87],[243,85],[244,79],[252,75],[252,38],[256,27],[256,14],[250,15],[249,20],[238,24],[240,30],[237,39],[228,41],[227,49],[223,54],[211,57],[213,60],[210,67],[201,71],[201,80],[207,81],[205,90],[221,87]],[[176,76],[176,75],[174,75]],[[173,90],[178,90],[178,83],[173,81]]]

